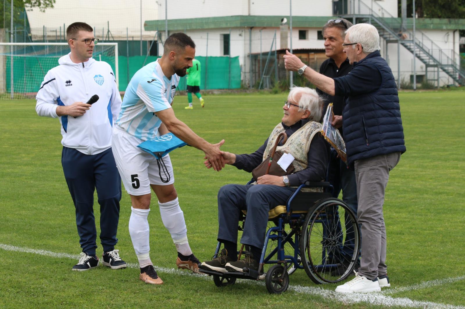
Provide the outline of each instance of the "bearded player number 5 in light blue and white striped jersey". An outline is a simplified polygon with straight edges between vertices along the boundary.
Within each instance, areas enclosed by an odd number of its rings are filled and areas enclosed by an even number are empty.
[[[199,272],[199,260],[187,241],[184,214],[174,188],[173,167],[169,155],[157,161],[137,146],[168,131],[187,144],[202,150],[219,171],[225,166],[219,147],[224,140],[210,144],[196,135],[174,116],[171,104],[179,83],[192,67],[195,44],[184,33],[173,33],[166,39],[163,56],[134,74],[126,88],[121,112],[113,129],[113,155],[131,196],[132,212],[129,233],[140,264],[140,280],[162,284],[149,257],[149,225],[151,188],[158,198],[161,219],[178,251],[178,268]]]

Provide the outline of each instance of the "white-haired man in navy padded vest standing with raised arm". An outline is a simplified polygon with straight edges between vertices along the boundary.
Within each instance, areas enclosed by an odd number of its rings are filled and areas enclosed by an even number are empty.
[[[379,53],[378,30],[357,24],[345,33],[344,52],[353,64],[350,74],[331,78],[311,68],[302,73],[325,93],[345,97],[343,115],[332,124],[342,124],[347,160],[355,169],[362,249],[355,278],[339,285],[336,292],[375,292],[390,286],[383,203],[389,172],[405,152],[404,129],[396,81]],[[284,58],[286,70],[298,71],[303,66],[289,52]]]

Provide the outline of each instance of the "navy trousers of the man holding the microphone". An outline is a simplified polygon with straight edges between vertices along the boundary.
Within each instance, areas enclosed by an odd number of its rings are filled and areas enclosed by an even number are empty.
[[[61,165],[76,209],[82,252],[94,255],[97,248],[93,215],[94,189],[97,189],[100,204],[100,242],[103,251],[112,251],[118,242],[116,232],[121,200],[121,178],[112,149],[97,155],[85,155],[76,149],[63,147]]]

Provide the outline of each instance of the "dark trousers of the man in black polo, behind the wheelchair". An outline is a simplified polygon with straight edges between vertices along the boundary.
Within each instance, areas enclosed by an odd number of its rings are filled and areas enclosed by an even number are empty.
[[[347,165],[337,157],[337,152],[331,149],[330,152],[330,172],[329,182],[334,187],[333,197],[337,198],[342,190],[342,200],[349,206],[355,216],[357,216],[357,182],[355,180],[355,171],[352,171]],[[345,216],[345,226],[349,226],[346,231],[345,242],[342,246],[342,255],[352,257],[355,247],[354,239],[356,235],[353,228],[350,227],[348,216]],[[341,229],[340,224],[337,229]],[[341,236],[342,237],[342,236]],[[342,239],[341,239],[342,242]],[[345,260],[345,258],[343,259]]]

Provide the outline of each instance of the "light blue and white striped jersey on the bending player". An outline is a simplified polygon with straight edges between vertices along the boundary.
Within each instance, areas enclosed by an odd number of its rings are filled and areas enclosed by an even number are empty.
[[[157,61],[134,74],[127,85],[116,125],[127,133],[147,141],[158,136],[161,120],[156,112],[171,108],[179,76],[166,78]]]

